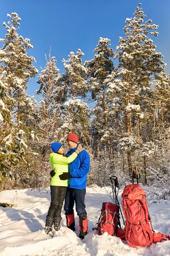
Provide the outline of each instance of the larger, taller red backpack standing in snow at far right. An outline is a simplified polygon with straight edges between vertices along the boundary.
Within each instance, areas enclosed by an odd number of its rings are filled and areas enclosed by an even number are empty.
[[[131,247],[147,247],[170,236],[155,233],[147,208],[146,194],[138,184],[125,186],[122,209],[126,219],[125,238]]]

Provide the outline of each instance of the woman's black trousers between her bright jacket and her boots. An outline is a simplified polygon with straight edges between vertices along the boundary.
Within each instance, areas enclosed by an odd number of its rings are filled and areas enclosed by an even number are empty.
[[[51,189],[51,204],[50,204],[50,208],[48,210],[47,216],[60,217],[62,204],[64,202],[67,187],[50,186],[50,189]]]

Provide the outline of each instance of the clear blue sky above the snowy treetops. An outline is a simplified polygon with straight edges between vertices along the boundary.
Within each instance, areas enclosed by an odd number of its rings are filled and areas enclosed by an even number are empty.
[[[133,17],[136,6],[141,7],[146,19],[159,25],[159,36],[152,37],[157,52],[164,55],[166,72],[170,74],[170,0],[0,0],[0,38],[8,22],[7,13],[17,12],[21,20],[19,35],[30,38],[39,70],[45,67],[45,55],[51,46],[51,55],[57,59],[60,73],[64,72],[62,58],[76,52],[78,48],[85,53],[82,60],[94,57],[94,48],[99,37],[111,39],[111,47],[116,48],[119,36],[123,36],[125,19]],[[116,63],[115,63],[116,64]],[[37,79],[28,83],[30,95],[38,89]]]

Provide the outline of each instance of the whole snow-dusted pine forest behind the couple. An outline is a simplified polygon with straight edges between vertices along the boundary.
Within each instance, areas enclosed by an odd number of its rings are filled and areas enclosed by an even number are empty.
[[[62,74],[51,49],[38,73],[28,54],[33,46],[19,35],[20,17],[7,16],[0,39],[0,189],[49,186],[51,143],[63,143],[66,153],[66,138],[75,133],[91,158],[88,186],[107,186],[110,174],[131,181],[137,166],[141,183],[170,195],[170,75],[153,41],[158,25],[140,4],[116,49],[101,37],[93,59],[83,64],[81,49],[70,52]],[[38,83],[35,96],[28,95],[30,78]]]

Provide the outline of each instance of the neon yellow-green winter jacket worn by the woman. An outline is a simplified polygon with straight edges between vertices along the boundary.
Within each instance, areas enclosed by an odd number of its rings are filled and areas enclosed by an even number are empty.
[[[56,173],[51,178],[51,186],[68,186],[68,180],[60,180],[59,175],[63,172],[68,172],[68,164],[73,162],[77,157],[77,153],[74,152],[69,157],[63,157],[61,154],[51,153],[49,155],[50,163],[53,164],[54,172]]]

